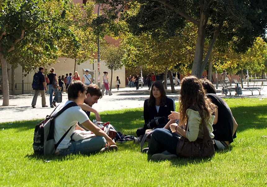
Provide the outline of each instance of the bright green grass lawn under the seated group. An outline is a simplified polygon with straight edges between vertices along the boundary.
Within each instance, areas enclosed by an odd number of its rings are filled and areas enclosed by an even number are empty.
[[[267,186],[267,99],[225,99],[238,122],[237,138],[209,159],[152,162],[133,142],[117,152],[38,156],[35,121],[0,124],[0,186]],[[135,135],[143,109],[100,113],[118,131]],[[50,162],[45,162],[50,161]]]

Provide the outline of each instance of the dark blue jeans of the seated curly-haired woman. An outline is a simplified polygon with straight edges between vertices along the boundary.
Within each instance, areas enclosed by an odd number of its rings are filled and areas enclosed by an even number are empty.
[[[176,154],[176,146],[180,136],[172,133],[168,129],[155,129],[151,135],[150,146],[147,154],[153,155],[168,151],[171,154]]]

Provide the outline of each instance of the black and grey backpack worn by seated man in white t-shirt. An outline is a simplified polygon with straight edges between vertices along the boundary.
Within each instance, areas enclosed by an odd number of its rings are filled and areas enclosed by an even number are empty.
[[[60,111],[58,111],[55,115],[51,116],[54,110],[49,116],[35,126],[34,130],[34,143],[33,149],[35,154],[39,155],[52,155],[55,153],[57,146],[60,142],[65,138],[65,136],[70,131],[71,127],[66,131],[66,133],[61,137],[61,139],[54,143],[54,128],[55,128],[55,119],[59,116],[62,112],[70,107],[77,106],[75,102],[71,102],[63,107]]]

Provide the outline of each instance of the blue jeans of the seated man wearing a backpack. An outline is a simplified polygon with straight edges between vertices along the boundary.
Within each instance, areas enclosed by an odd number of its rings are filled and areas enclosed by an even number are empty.
[[[60,149],[60,155],[68,154],[88,154],[100,151],[106,145],[106,139],[103,136],[94,136],[92,138],[80,141],[70,141],[70,145],[66,149]]]

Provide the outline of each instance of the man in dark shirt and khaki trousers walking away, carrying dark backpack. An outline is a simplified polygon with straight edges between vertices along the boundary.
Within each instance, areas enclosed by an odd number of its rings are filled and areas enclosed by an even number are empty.
[[[36,108],[35,105],[36,105],[36,100],[37,100],[39,92],[41,92],[42,107],[48,107],[46,105],[46,101],[45,101],[45,92],[47,91],[47,87],[46,87],[46,82],[44,79],[43,72],[44,72],[44,67],[39,67],[39,71],[38,71],[37,75],[39,77],[39,83],[40,84],[39,84],[39,89],[34,90],[34,97],[32,100],[32,107],[33,108]]]

